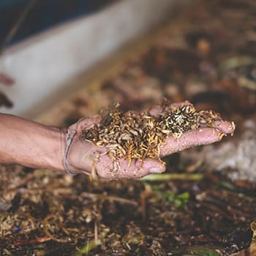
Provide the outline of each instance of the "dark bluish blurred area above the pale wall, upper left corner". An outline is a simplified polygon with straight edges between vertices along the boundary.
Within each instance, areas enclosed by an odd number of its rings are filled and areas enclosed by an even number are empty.
[[[61,22],[89,15],[113,1],[115,0],[2,0],[0,2],[1,45],[6,43],[6,39],[10,39],[7,45],[11,45]],[[20,20],[21,16],[23,20]],[[19,26],[19,29],[12,38],[9,38],[8,35],[14,26]]]

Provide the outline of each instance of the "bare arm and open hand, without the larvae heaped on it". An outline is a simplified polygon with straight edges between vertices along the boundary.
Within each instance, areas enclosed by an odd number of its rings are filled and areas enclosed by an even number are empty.
[[[186,103],[187,104],[187,103]],[[71,173],[91,174],[95,170],[102,178],[140,178],[148,173],[162,173],[165,165],[159,159],[143,162],[119,160],[118,172],[113,171],[113,160],[106,148],[80,140],[80,133],[100,117],[86,118],[69,127],[75,137],[67,152],[67,168]],[[218,120],[214,127],[185,132],[180,138],[168,136],[160,146],[160,156],[165,157],[192,146],[214,143],[223,135],[233,133],[232,123]],[[17,116],[0,114],[0,163],[16,163],[34,168],[64,171],[63,159],[67,143],[67,129],[48,127]]]

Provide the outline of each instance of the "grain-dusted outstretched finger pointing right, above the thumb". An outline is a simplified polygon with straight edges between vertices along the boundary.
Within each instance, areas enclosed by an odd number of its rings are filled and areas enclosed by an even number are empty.
[[[180,138],[168,136],[165,143],[160,147],[161,157],[182,151],[193,146],[207,145],[219,140],[227,134],[232,134],[235,125],[228,121],[215,121],[214,128],[202,128],[190,130],[181,135]]]

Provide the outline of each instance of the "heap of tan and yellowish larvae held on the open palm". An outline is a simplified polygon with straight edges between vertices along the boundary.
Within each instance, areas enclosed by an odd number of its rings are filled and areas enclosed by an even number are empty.
[[[167,104],[168,103],[168,104]],[[184,132],[203,127],[214,127],[214,121],[221,120],[212,110],[195,110],[192,104],[172,106],[165,102],[157,114],[151,111],[123,112],[118,105],[102,111],[99,124],[83,129],[80,139],[96,146],[108,148],[108,154],[118,167],[121,158],[143,161],[159,158],[160,145],[167,135],[180,138]]]

